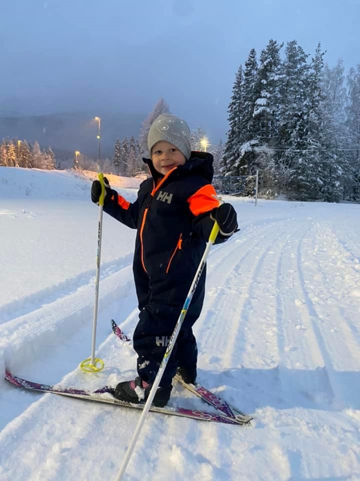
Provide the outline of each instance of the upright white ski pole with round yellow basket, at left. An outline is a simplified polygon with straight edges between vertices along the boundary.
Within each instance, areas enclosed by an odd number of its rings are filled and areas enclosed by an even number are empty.
[[[103,225],[103,207],[105,199],[105,185],[104,175],[99,172],[97,177],[101,184],[101,194],[99,198],[99,221],[97,227],[97,252],[96,252],[96,281],[95,281],[95,304],[94,304],[94,316],[93,316],[93,339],[91,343],[91,357],[85,359],[80,368],[84,372],[98,372],[104,369],[104,361],[95,357],[95,343],[96,343],[96,322],[97,322],[97,305],[99,299],[99,278],[100,278],[100,254],[101,254],[101,233]]]

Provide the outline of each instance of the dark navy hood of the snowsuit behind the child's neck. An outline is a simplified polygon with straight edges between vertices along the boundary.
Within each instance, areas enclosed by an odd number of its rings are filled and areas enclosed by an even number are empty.
[[[164,177],[163,174],[157,172],[151,159],[143,157],[143,161],[149,166],[151,176],[155,183]],[[214,157],[209,152],[191,152],[190,159],[186,161],[184,165],[178,165],[176,172],[181,176],[192,175],[204,177],[211,184],[214,177],[213,162]]]

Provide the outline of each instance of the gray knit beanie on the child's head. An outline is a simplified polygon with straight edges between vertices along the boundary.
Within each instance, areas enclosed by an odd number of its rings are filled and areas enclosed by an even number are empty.
[[[175,145],[184,154],[186,160],[190,159],[191,134],[185,120],[171,114],[160,114],[147,134],[147,147],[150,157],[152,148],[160,140],[166,140]]]

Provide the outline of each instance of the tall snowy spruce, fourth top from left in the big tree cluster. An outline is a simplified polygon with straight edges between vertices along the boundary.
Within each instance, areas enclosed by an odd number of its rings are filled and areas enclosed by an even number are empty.
[[[304,147],[304,121],[306,118],[308,54],[296,40],[287,43],[280,82],[278,141],[275,164],[278,189],[288,192],[292,169]]]

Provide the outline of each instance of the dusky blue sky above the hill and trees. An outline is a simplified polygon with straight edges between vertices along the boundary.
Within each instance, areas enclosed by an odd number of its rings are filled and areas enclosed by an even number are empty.
[[[359,0],[3,0],[1,17],[0,114],[146,115],[163,96],[224,137],[251,48],[320,41],[330,66],[360,63]]]

